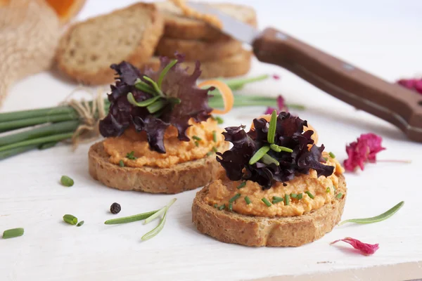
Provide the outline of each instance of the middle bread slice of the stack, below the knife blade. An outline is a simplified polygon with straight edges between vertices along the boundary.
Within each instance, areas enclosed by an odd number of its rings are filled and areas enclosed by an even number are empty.
[[[198,40],[183,40],[162,37],[158,42],[155,53],[174,58],[174,53],[185,55],[186,60],[222,60],[241,52],[242,43],[234,39],[222,39],[207,42]]]

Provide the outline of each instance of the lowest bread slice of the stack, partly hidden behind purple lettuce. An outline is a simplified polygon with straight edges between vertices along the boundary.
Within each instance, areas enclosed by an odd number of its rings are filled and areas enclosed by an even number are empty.
[[[250,70],[251,60],[252,54],[250,51],[242,50],[240,53],[232,55],[229,58],[201,62],[200,70],[202,73],[200,74],[200,78],[235,77],[246,74]],[[195,62],[184,62],[181,63],[181,66],[188,67],[188,73],[192,74],[193,70],[195,70],[195,64]],[[142,67],[157,71],[160,69],[160,58],[153,57],[148,60],[146,65],[141,66],[141,69]]]

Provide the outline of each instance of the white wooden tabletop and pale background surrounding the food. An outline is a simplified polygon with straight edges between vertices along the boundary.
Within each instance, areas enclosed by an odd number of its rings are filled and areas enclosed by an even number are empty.
[[[79,19],[133,1],[89,0]],[[235,2],[235,1],[234,1]],[[249,0],[260,26],[273,25],[378,76],[395,81],[422,73],[422,1],[287,1]],[[110,38],[113,44],[113,38]],[[0,62],[1,63],[1,62]],[[392,125],[357,112],[293,74],[254,62],[250,75],[276,73],[243,90],[250,94],[282,93],[288,103],[319,132],[328,151],[345,159],[345,144],[361,133],[383,136],[387,150],[378,159],[411,159],[411,164],[369,164],[347,174],[349,194],[343,218],[381,214],[397,202],[404,207],[392,218],[366,226],[345,225],[299,248],[248,248],[201,235],[191,223],[196,191],[149,195],[105,188],[88,174],[87,151],[61,145],[0,162],[0,232],[25,228],[23,237],[0,240],[0,280],[409,280],[422,277],[422,145],[407,141]],[[56,105],[75,88],[56,74],[27,78],[11,89],[1,112]],[[422,98],[422,96],[421,96]],[[226,125],[250,124],[264,107],[234,110]],[[72,188],[58,181],[74,178]],[[120,216],[162,206],[177,197],[167,224],[157,237],[141,242],[154,223],[105,226],[114,218],[110,204],[122,205]],[[75,228],[62,221],[74,214],[85,221]],[[348,245],[330,246],[343,237],[379,243],[373,256]],[[344,246],[344,247],[343,247]],[[331,273],[331,275],[325,275]]]

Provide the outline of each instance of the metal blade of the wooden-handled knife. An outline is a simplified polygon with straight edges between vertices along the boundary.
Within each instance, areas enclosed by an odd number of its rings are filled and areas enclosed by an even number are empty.
[[[187,5],[199,13],[215,15],[222,22],[222,32],[239,41],[252,44],[253,40],[260,33],[254,27],[251,27],[250,25],[247,25],[240,20],[236,20],[230,15],[227,15],[226,13],[213,8],[210,5],[190,1],[187,2]]]

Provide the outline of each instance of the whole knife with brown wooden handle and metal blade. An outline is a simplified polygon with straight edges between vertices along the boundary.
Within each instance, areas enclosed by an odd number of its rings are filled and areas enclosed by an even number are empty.
[[[411,140],[422,142],[422,96],[280,30],[269,27],[260,32],[207,4],[188,2],[188,6],[215,15],[222,22],[222,32],[250,44],[261,62],[286,68],[331,96],[394,124]]]

